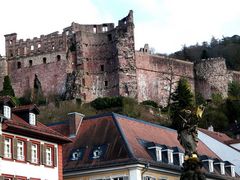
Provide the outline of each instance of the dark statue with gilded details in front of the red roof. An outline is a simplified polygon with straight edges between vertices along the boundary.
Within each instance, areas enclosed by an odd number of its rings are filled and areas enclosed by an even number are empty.
[[[204,107],[199,106],[196,110],[183,109],[179,113],[181,122],[177,129],[178,140],[185,149],[185,161],[180,180],[205,180],[197,153],[197,127],[203,111]]]

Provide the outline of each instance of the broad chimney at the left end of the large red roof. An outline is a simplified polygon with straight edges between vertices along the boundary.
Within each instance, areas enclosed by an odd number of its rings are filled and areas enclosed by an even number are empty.
[[[75,137],[82,123],[84,114],[78,112],[68,113],[69,137]]]

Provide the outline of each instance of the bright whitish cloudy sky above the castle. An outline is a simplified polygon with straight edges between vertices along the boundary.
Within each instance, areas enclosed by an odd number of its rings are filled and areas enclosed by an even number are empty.
[[[209,41],[212,36],[240,34],[240,0],[4,0],[0,2],[0,54],[4,34],[18,39],[61,32],[80,24],[114,22],[134,12],[136,49],[148,43],[159,53],[184,44]]]

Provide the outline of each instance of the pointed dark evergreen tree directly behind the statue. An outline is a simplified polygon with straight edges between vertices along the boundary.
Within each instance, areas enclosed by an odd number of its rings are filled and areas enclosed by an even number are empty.
[[[183,109],[193,109],[194,100],[193,93],[191,92],[191,87],[188,81],[181,78],[178,82],[176,91],[171,97],[172,103],[170,104],[170,113],[172,120],[172,127],[178,129],[179,124],[182,123],[179,119],[179,113]]]

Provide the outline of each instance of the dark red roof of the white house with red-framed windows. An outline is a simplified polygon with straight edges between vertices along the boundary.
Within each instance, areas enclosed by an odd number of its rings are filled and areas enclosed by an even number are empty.
[[[58,142],[60,144],[71,142],[71,140],[67,137],[64,137],[62,134],[54,131],[53,129],[45,126],[42,123],[37,122],[36,126],[30,125],[25,120],[15,114],[12,114],[11,120],[4,121],[3,131]]]

